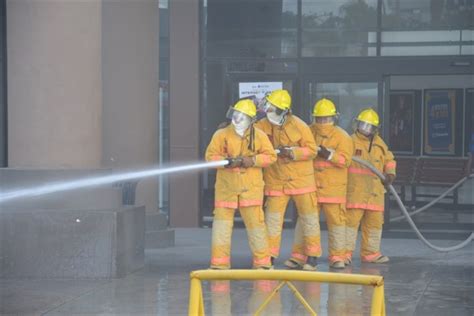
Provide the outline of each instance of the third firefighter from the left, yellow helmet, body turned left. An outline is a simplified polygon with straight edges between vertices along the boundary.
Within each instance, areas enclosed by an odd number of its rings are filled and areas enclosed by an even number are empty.
[[[324,211],[329,234],[329,264],[333,268],[344,268],[346,249],[346,191],[347,169],[351,164],[353,144],[351,137],[336,126],[336,106],[331,100],[321,99],[313,108],[313,124],[310,126],[316,145],[317,157],[313,161],[318,205]],[[295,229],[293,254],[285,262],[289,268],[300,268],[303,264],[297,244],[301,240],[301,224]]]

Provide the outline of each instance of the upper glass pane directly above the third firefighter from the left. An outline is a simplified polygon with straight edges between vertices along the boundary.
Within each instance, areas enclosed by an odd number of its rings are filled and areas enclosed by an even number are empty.
[[[303,0],[302,56],[374,56],[377,0]]]

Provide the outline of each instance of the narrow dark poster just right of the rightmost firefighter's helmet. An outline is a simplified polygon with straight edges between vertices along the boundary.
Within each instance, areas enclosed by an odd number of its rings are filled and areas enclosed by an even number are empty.
[[[399,153],[414,152],[415,92],[390,93],[390,148]]]

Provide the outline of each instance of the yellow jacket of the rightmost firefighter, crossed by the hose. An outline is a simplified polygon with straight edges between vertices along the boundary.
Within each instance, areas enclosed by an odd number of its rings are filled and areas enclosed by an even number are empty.
[[[354,156],[370,162],[380,172],[395,175],[396,162],[385,142],[374,137],[369,153],[370,140],[356,132],[352,135]],[[384,210],[385,188],[376,174],[363,165],[352,161],[347,185],[347,208],[371,211]]]

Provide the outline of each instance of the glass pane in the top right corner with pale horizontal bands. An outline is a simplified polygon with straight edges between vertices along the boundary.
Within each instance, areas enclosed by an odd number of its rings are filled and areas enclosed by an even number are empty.
[[[381,55],[469,55],[472,0],[382,1]]]

